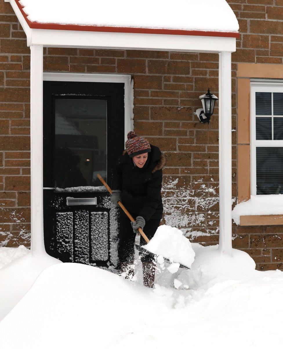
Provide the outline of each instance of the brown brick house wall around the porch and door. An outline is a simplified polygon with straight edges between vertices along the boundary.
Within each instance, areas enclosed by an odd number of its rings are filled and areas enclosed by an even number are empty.
[[[228,1],[241,37],[232,54],[232,129],[236,130],[238,62],[282,63],[283,1]],[[9,3],[0,0],[0,243],[29,246],[29,48]],[[198,122],[194,111],[207,88],[218,94],[218,55],[156,51],[47,48],[44,70],[131,74],[134,128],[159,146],[164,169],[164,222],[178,222],[194,242],[218,242],[218,117]],[[236,196],[236,132],[233,196]],[[186,227],[190,226],[190,229]],[[233,246],[260,270],[283,269],[281,227],[236,227]]]

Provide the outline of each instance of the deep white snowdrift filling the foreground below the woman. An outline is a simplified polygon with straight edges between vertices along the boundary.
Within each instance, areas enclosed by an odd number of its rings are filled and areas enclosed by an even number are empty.
[[[154,289],[82,264],[46,268],[0,322],[0,348],[281,347],[282,272],[192,247],[191,269],[164,267]]]

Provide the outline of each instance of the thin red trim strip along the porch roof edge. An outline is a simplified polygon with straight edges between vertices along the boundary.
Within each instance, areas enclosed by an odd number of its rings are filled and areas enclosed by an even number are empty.
[[[140,33],[140,34],[167,34],[167,35],[195,35],[195,36],[216,36],[238,38],[239,33],[222,31],[182,30],[182,29],[154,29],[154,28],[132,28],[132,27],[104,27],[99,25],[79,24],[56,24],[31,22],[23,10],[19,0],[15,0],[19,10],[24,16],[26,23],[31,29],[52,29],[52,30],[78,30],[78,31],[101,31],[113,33]]]

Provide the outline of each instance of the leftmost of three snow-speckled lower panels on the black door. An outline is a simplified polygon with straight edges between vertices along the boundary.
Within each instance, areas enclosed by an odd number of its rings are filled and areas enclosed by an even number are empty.
[[[56,227],[57,251],[69,255],[71,262],[73,261],[73,213],[56,213]]]

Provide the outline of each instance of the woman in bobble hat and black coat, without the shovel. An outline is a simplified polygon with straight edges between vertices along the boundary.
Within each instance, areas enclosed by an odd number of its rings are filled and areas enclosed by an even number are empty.
[[[129,221],[124,211],[120,210],[118,270],[121,273],[134,263],[134,243],[138,229],[143,229],[151,239],[159,227],[163,214],[162,168],[166,162],[160,149],[147,139],[137,136],[133,131],[128,133],[127,138],[126,149],[118,161],[111,194],[111,201],[117,206],[118,201],[121,201],[135,219],[135,222]],[[140,244],[146,242],[141,239]],[[155,265],[152,258],[143,255],[141,261],[144,285],[153,287]]]

